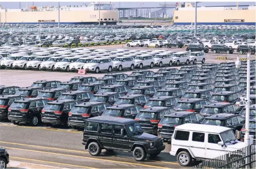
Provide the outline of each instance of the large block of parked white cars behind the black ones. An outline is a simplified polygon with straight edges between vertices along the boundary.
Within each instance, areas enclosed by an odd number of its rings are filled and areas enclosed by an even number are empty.
[[[92,49],[92,48],[10,48],[1,49],[2,69],[51,70],[73,72],[122,71],[163,65],[204,63],[204,52],[175,52],[164,49]],[[5,57],[4,57],[5,56]]]

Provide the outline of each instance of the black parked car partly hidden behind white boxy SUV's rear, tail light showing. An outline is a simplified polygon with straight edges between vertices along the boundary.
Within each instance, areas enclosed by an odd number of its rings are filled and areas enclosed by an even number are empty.
[[[200,124],[204,120],[204,116],[197,112],[178,111],[164,115],[158,123],[157,135],[165,141],[170,142],[174,129],[178,125],[186,123]]]

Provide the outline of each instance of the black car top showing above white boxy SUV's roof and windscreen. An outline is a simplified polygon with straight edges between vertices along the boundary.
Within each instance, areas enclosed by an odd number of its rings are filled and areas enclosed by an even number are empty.
[[[221,113],[205,117],[202,124],[229,127],[235,133],[236,130],[240,131],[242,129],[245,119],[238,114]]]

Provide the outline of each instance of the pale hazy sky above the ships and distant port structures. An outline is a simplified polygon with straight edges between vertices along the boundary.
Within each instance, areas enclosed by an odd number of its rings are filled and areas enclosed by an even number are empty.
[[[1,2],[0,3],[2,5],[3,8],[19,8],[20,7],[20,4],[19,2]],[[28,8],[30,6],[32,6],[32,2],[28,2]],[[84,3],[82,2],[61,2],[60,5],[61,6],[66,6],[66,5],[83,5]],[[87,4],[89,4],[87,2]],[[164,2],[121,2],[121,3],[118,3],[118,2],[113,2],[112,4],[114,4],[114,6],[116,8],[119,7],[119,4],[122,7],[159,7],[160,5],[159,4],[164,4]],[[167,4],[175,4],[174,2],[167,2]],[[36,6],[58,6],[58,3],[57,2],[35,2],[34,5]],[[225,6],[225,5],[236,5],[236,2],[201,2],[201,3],[198,3],[198,6]],[[238,6],[239,5],[255,5],[255,3],[253,2],[238,2]],[[26,7],[26,3],[25,2],[21,2],[21,7],[22,8],[25,8]],[[154,11],[153,9],[151,10],[152,12]],[[167,14],[171,14],[172,13],[172,9],[170,10],[167,10]]]

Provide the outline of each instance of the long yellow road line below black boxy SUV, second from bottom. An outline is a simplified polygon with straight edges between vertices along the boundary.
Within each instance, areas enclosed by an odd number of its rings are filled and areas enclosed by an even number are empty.
[[[36,153],[45,153],[45,154],[52,154],[52,155],[60,155],[60,156],[68,156],[68,157],[77,157],[77,158],[84,158],[84,159],[91,159],[91,160],[99,160],[99,161],[108,161],[108,162],[114,162],[114,163],[122,163],[122,164],[129,164],[129,165],[139,165],[139,166],[146,166],[146,167],[154,167],[154,168],[168,168],[169,167],[161,167],[161,166],[154,166],[154,165],[146,165],[146,164],[139,164],[139,163],[132,163],[132,162],[124,162],[124,161],[114,161],[114,160],[107,160],[107,159],[98,159],[93,157],[83,157],[83,156],[74,156],[74,155],[66,155],[66,154],[60,154],[60,153],[51,153],[47,151],[38,151],[38,150],[31,150],[31,149],[23,149],[23,148],[14,148],[14,147],[5,147],[10,149],[17,149],[17,150],[24,150],[24,151],[32,151]]]

